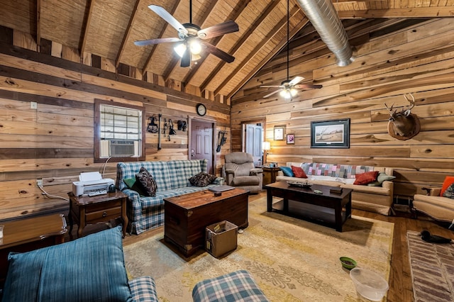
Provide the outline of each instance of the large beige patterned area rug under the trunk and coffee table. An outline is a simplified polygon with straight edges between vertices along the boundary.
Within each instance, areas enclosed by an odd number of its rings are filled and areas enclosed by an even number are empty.
[[[339,257],[389,280],[394,224],[353,216],[339,233],[278,213],[266,197],[249,206],[249,226],[238,248],[221,259],[201,250],[190,258],[163,240],[163,233],[124,247],[132,277],[153,276],[161,302],[192,301],[198,281],[246,269],[270,301],[367,301],[356,291]]]

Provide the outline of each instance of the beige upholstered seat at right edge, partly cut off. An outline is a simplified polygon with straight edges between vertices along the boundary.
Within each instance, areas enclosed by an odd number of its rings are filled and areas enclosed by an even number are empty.
[[[452,222],[454,220],[454,201],[451,198],[440,196],[440,191],[441,188],[431,188],[428,192],[429,195],[415,194],[412,210],[425,213],[435,220]]]

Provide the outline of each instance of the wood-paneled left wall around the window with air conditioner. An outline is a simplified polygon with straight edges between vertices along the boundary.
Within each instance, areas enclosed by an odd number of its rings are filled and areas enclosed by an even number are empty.
[[[230,131],[230,108],[219,96],[202,98],[194,87],[164,83],[153,74],[142,77],[132,67],[116,72],[114,62],[88,53],[81,64],[77,51],[44,39],[42,52],[36,52],[29,35],[0,32],[0,219],[67,213],[65,198],[80,172],[104,170],[104,177],[116,179],[116,162],[94,163],[94,99],[144,106],[147,120],[159,113],[162,121],[172,119],[177,135],[170,141],[161,135],[162,150],[157,134],[146,133],[146,160],[188,158],[189,131],[177,130],[179,120],[216,122],[217,130]],[[199,103],[208,108],[204,118],[196,115]],[[229,144],[216,153],[217,172],[226,152]]]

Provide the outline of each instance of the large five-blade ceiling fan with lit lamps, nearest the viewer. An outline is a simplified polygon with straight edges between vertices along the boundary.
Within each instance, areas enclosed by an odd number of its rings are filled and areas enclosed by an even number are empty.
[[[135,45],[145,46],[158,43],[177,43],[175,51],[182,57],[180,63],[181,67],[189,67],[189,65],[191,65],[191,60],[198,60],[200,58],[200,53],[203,51],[209,52],[228,63],[235,60],[235,57],[232,55],[229,55],[227,52],[220,50],[218,47],[211,45],[204,40],[238,31],[239,28],[236,22],[226,21],[216,24],[215,26],[201,29],[199,26],[192,23],[192,1],[189,1],[189,23],[183,24],[179,23],[179,21],[162,8],[162,6],[152,4],[148,6],[148,8],[167,21],[170,26],[175,28],[178,32],[178,38],[139,40],[134,42]]]

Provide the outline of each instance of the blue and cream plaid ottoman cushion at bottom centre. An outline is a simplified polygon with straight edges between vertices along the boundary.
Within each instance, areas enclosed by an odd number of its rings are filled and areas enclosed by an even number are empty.
[[[194,302],[269,301],[245,270],[200,281],[192,290]]]

